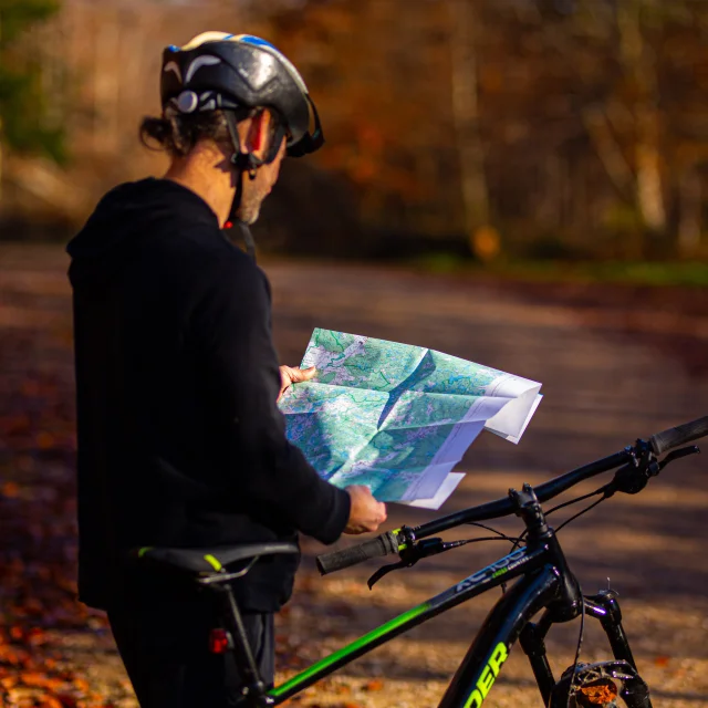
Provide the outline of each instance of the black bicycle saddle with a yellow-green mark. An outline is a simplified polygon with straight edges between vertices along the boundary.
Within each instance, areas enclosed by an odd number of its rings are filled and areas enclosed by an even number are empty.
[[[142,549],[135,549],[133,555],[191,573],[210,573],[218,572],[230,563],[248,561],[260,555],[299,552],[300,549],[295,543],[269,542],[221,545],[209,549],[168,549],[146,545]]]

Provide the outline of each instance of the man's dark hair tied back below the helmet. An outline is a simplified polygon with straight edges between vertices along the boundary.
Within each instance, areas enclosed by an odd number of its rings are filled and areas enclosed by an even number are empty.
[[[253,117],[263,108],[239,108],[237,122]],[[269,138],[275,132],[275,121],[271,121]],[[139,128],[140,143],[150,149],[164,149],[170,157],[186,157],[199,140],[210,139],[217,145],[231,149],[231,134],[223,111],[198,113],[175,113],[162,117],[146,116]]]

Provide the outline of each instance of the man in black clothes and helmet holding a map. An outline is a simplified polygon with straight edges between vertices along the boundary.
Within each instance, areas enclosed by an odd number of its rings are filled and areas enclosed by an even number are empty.
[[[314,372],[279,369],[266,277],[220,230],[256,221],[285,154],[322,144],[304,82],[263,40],[209,32],[165,50],[162,102],[142,135],[168,152],[166,175],[108,192],[67,248],[79,593],[107,610],[143,708],[217,708],[241,685],[207,652],[214,608],[191,585],[135,570],[128,551],[298,531],[332,543],[375,531],[386,510],[365,487],[322,480],[285,439],[275,400]],[[266,681],[292,558],[262,559],[233,585]]]

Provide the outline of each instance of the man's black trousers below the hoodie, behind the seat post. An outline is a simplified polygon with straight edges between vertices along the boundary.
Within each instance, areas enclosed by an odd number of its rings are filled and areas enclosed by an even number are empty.
[[[108,621],[140,708],[227,708],[241,696],[233,653],[209,652],[210,631],[223,624],[208,603],[114,606]],[[272,686],[273,615],[243,614],[243,624]]]

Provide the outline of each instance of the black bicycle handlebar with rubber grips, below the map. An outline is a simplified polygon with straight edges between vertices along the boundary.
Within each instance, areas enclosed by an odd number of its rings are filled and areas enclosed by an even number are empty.
[[[708,416],[653,435],[649,438],[649,446],[655,455],[660,455],[671,448],[696,440],[706,435],[708,435]],[[590,465],[584,465],[583,467],[579,467],[570,472],[565,472],[565,475],[561,475],[534,487],[535,496],[541,503],[549,501],[579,482],[601,475],[602,472],[617,469],[631,459],[633,459],[632,448],[626,448],[622,450],[622,452],[615,452],[610,457],[590,462]],[[426,537],[440,533],[441,531],[458,527],[462,523],[501,519],[502,517],[509,517],[516,513],[516,511],[514,502],[509,497],[504,497],[478,507],[470,507],[469,509],[441,517],[440,519],[435,519],[429,523],[416,527],[412,531],[416,539],[425,539]],[[400,542],[403,542],[403,538],[399,541],[397,531],[387,531],[369,541],[364,541],[364,543],[319,555],[316,559],[317,569],[322,575],[325,575],[348,568],[350,565],[355,565],[371,558],[398,553]]]

